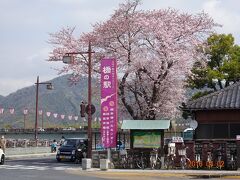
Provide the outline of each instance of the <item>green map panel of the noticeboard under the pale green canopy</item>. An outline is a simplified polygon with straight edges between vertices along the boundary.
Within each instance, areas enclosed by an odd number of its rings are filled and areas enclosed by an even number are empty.
[[[133,148],[158,148],[161,145],[160,131],[134,131]]]

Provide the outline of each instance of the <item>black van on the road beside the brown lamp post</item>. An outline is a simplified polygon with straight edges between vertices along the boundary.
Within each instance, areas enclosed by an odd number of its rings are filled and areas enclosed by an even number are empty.
[[[87,154],[88,140],[86,138],[67,138],[60,148],[58,148],[56,159],[81,162]]]

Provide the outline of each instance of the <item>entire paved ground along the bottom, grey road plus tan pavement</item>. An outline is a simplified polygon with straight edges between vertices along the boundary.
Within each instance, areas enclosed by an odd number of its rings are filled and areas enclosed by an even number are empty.
[[[20,158],[20,157],[19,157]],[[0,166],[0,180],[155,180],[155,179],[239,179],[239,171],[192,170],[108,170],[84,171],[79,164],[58,163],[54,156],[7,160]]]

